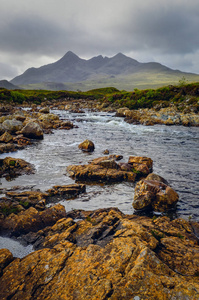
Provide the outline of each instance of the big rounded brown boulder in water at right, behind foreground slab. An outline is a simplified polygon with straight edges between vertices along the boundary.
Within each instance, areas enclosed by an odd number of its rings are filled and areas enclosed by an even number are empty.
[[[150,175],[149,175],[150,176]],[[147,177],[140,180],[135,187],[133,207],[136,210],[152,209],[163,212],[176,206],[179,199],[178,194],[170,186],[163,183],[165,180],[158,176]]]

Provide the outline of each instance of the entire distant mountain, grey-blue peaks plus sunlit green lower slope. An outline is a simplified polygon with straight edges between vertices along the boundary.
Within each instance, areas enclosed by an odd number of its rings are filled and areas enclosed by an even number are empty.
[[[140,84],[146,88],[146,81],[149,85],[158,86],[176,83],[183,76],[188,81],[199,81],[197,74],[172,70],[156,62],[140,63],[122,53],[111,58],[99,55],[85,60],[69,51],[54,63],[26,70],[11,83],[25,88],[51,87],[53,90],[86,90],[105,86],[132,90],[137,80],[136,87]]]

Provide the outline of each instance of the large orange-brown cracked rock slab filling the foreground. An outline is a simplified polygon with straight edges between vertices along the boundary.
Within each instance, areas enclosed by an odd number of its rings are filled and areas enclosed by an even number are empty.
[[[76,210],[23,239],[40,250],[0,251],[1,299],[199,297],[198,240],[182,219]]]

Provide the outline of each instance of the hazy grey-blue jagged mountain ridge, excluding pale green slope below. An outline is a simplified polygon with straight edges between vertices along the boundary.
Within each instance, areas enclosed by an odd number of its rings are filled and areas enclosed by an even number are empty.
[[[81,83],[93,80],[109,80],[115,78],[119,81],[125,76],[154,73],[164,76],[170,74],[180,76],[192,74],[173,70],[158,62],[141,63],[122,53],[113,57],[94,56],[88,60],[80,58],[72,51],[54,63],[39,68],[29,68],[23,74],[16,76],[10,82],[15,85],[30,85],[46,82],[54,83]],[[193,74],[195,75],[195,74]],[[199,75],[198,75],[199,78]]]

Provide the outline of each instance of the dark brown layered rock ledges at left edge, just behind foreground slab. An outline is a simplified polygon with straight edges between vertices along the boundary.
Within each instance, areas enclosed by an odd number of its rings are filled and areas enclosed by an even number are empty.
[[[0,232],[18,236],[24,232],[35,232],[48,223],[54,224],[66,216],[65,208],[60,204],[52,207],[46,204],[73,199],[85,191],[84,184],[54,186],[45,193],[2,190],[5,196],[0,199]]]

